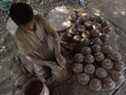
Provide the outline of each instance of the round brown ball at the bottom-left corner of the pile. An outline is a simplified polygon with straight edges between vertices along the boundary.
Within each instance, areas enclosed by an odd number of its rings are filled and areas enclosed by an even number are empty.
[[[77,75],[77,80],[80,84],[87,85],[90,81],[90,77],[86,73],[81,73]]]

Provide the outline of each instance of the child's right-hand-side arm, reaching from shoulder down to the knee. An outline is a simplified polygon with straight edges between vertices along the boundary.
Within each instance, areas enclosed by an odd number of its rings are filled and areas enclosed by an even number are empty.
[[[60,42],[61,42],[61,36],[51,27],[50,23],[42,16],[38,15],[38,23],[41,23],[44,30],[49,34],[53,36],[53,43],[54,43],[54,48],[55,48],[55,57],[57,59],[57,63],[61,68],[65,68],[66,61],[61,55],[61,48],[60,48]]]

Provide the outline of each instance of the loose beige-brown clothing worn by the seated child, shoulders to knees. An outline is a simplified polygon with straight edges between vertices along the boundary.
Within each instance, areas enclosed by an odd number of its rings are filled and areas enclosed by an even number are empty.
[[[42,81],[43,65],[52,69],[54,77],[62,79],[65,60],[60,54],[58,35],[41,16],[34,16],[34,20],[34,32],[25,32],[21,28],[16,32],[22,64],[28,72],[35,73]]]

